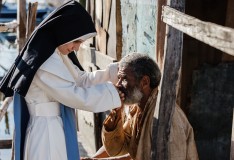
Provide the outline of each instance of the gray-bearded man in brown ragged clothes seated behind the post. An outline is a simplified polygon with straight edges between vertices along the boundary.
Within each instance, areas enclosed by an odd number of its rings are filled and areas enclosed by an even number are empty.
[[[150,160],[153,115],[161,79],[159,67],[149,56],[131,53],[119,62],[118,79],[116,85],[125,94],[124,106],[112,110],[104,120],[103,147],[94,157]],[[193,129],[176,105],[170,129],[169,160],[197,159]]]

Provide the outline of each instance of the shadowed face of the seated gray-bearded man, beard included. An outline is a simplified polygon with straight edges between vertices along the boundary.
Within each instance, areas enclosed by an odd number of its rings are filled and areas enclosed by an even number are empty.
[[[125,94],[124,104],[130,105],[139,103],[143,97],[140,90],[140,84],[136,81],[134,74],[130,68],[120,68],[118,72],[117,86]]]

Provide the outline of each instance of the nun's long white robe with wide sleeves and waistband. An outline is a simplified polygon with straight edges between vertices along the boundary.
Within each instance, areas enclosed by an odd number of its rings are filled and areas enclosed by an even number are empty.
[[[24,160],[67,160],[57,102],[92,112],[119,107],[117,90],[106,82],[117,82],[117,70],[117,64],[113,63],[106,70],[83,72],[67,56],[55,52],[37,71],[25,97],[30,122]]]

